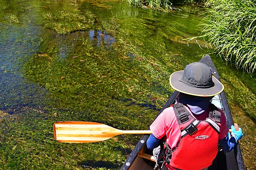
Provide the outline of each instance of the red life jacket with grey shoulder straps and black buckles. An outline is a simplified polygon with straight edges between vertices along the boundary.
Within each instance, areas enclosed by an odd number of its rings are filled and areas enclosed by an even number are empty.
[[[210,104],[209,117],[197,120],[182,103],[173,105],[181,138],[178,146],[170,149],[164,142],[157,162],[167,164],[179,170],[200,170],[212,164],[218,153],[218,141],[221,123],[221,112]]]

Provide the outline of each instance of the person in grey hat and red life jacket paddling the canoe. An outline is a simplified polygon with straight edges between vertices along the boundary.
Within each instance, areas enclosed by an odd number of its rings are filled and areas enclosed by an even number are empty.
[[[188,64],[170,76],[170,85],[179,91],[176,104],[166,108],[151,124],[148,149],[154,149],[154,169],[207,169],[218,153],[218,145],[231,151],[242,138],[242,130],[231,126],[229,139],[224,112],[210,103],[224,86],[204,63]],[[162,142],[163,141],[163,142]]]

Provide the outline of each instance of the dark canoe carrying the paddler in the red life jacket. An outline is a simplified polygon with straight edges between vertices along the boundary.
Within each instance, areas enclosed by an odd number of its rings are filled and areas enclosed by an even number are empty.
[[[212,69],[212,73],[215,77],[220,80],[219,74],[214,66],[209,55],[204,56],[199,62],[207,64]],[[171,104],[175,103],[176,96],[178,91],[174,91],[172,96],[169,98],[165,106],[159,114],[167,107],[170,107]],[[220,94],[214,96],[212,103],[221,108],[227,118],[227,125],[231,129],[231,125],[234,124],[229,105],[227,103],[225,92],[222,91]],[[158,114],[158,115],[159,115]],[[158,116],[157,115],[157,116]],[[156,117],[157,117],[156,116]],[[148,128],[149,130],[149,128]],[[230,134],[229,134],[230,135]],[[148,150],[146,142],[149,135],[144,135],[135,148],[132,150],[131,154],[124,162],[120,170],[153,170],[155,165],[154,157],[152,150]],[[242,153],[239,143],[237,146],[229,153],[224,153],[222,150],[218,151],[217,157],[214,159],[212,165],[208,170],[245,170],[244,161],[242,158]]]

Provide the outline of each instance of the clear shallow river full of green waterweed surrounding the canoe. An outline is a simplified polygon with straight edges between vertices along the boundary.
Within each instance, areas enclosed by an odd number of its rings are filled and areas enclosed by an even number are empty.
[[[184,40],[200,31],[197,13],[120,0],[0,0],[0,169],[120,168],[140,135],[58,143],[52,125],[146,130],[173,92],[170,74],[208,54],[205,43]],[[233,118],[248,134],[242,152],[253,169],[255,75],[211,57]]]

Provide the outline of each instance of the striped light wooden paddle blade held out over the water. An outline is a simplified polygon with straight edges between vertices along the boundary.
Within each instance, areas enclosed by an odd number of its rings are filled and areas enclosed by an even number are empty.
[[[53,133],[56,141],[68,143],[99,142],[121,134],[106,124],[79,121],[56,122]]]

